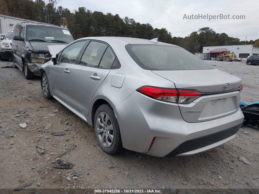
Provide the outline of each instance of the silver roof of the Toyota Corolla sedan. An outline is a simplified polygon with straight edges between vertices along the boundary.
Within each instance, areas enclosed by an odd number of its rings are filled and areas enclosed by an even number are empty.
[[[81,40],[100,40],[100,41],[104,41],[107,42],[109,44],[109,42],[126,42],[128,44],[149,44],[149,45],[168,45],[168,46],[176,46],[176,45],[172,45],[172,44],[168,44],[165,42],[152,42],[150,40],[147,39],[140,39],[140,38],[130,38],[130,37],[85,37],[85,38],[81,38]],[[176,46],[179,47],[179,46]]]

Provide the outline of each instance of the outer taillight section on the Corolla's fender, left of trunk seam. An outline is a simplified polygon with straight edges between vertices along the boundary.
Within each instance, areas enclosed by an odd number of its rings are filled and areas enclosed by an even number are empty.
[[[178,94],[176,89],[156,88],[156,87],[149,87],[149,86],[143,86],[139,88],[137,91],[154,99],[163,100],[167,102],[174,102],[174,103],[176,103],[177,94]]]

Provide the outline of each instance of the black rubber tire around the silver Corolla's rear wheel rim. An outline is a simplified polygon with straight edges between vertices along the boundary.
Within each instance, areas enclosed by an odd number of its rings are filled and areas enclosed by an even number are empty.
[[[99,139],[98,134],[97,134],[97,125],[98,125],[97,124],[97,117],[102,112],[106,113],[110,117],[110,121],[111,121],[111,124],[113,126],[113,141],[112,141],[110,147],[104,147],[102,145],[100,139]],[[95,128],[95,135],[96,135],[96,139],[98,141],[98,144],[104,152],[106,152],[107,154],[116,154],[116,153],[119,153],[119,152],[123,151],[119,124],[118,124],[118,121],[115,117],[115,114],[114,114],[114,112],[113,112],[113,110],[112,110],[112,108],[109,104],[102,104],[98,107],[98,109],[95,113],[94,128]],[[99,128],[101,128],[101,127],[99,127]],[[104,133],[107,133],[107,130]],[[111,132],[109,132],[109,133],[111,133]],[[100,133],[100,135],[103,135],[103,134]]]

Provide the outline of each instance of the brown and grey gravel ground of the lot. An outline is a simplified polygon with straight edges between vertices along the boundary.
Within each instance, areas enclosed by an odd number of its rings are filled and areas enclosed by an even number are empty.
[[[206,62],[242,78],[241,101],[259,101],[259,66]],[[0,67],[6,65],[12,61],[0,62]],[[31,182],[26,189],[68,193],[74,188],[202,188],[204,192],[259,188],[259,131],[241,128],[230,142],[193,156],[157,158],[132,151],[111,156],[99,148],[91,126],[56,100],[42,97],[39,78],[26,80],[19,69],[3,68],[0,80],[1,189]],[[27,127],[20,127],[21,123]],[[77,146],[60,157],[75,164],[73,169],[54,168],[55,157],[73,144]],[[45,154],[40,155],[37,146]],[[250,165],[239,161],[239,156]],[[81,176],[71,175],[74,170]]]

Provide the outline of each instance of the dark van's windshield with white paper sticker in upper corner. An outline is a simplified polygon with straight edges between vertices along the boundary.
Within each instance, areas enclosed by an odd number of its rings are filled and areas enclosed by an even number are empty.
[[[74,41],[74,38],[68,30],[63,28],[28,25],[27,40],[39,42],[70,43]]]

